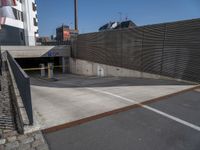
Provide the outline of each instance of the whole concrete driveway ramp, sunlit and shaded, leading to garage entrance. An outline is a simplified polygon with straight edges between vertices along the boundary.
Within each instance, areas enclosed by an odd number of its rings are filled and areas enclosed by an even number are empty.
[[[56,82],[31,78],[34,114],[42,129],[130,106],[134,101],[141,103],[194,87],[187,83],[155,79],[75,75],[57,75],[57,78]],[[104,92],[112,92],[119,97]],[[120,96],[134,101],[124,101]]]

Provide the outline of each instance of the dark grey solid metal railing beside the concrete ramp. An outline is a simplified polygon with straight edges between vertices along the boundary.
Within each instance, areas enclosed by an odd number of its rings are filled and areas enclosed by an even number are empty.
[[[30,124],[33,124],[33,111],[30,90],[30,78],[22,70],[16,60],[7,52],[7,59],[10,63],[20,96],[26,109]]]

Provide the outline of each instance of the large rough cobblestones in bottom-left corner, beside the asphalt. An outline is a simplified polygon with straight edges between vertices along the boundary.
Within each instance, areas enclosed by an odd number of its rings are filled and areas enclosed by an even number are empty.
[[[5,133],[0,140],[0,150],[48,150],[41,131],[19,135],[16,132]]]

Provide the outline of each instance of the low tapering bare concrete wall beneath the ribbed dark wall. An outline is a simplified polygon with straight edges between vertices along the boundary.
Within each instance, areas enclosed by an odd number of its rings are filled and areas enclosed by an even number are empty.
[[[99,76],[99,77],[135,77],[135,78],[153,78],[153,79],[173,79],[177,81],[184,81],[170,77],[139,72],[135,70],[125,69],[121,67],[109,66],[99,64],[91,61],[70,58],[70,72],[78,75],[85,76]],[[193,83],[190,81],[185,81]]]

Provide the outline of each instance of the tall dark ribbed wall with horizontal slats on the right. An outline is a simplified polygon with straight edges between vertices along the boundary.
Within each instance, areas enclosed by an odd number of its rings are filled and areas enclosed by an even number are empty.
[[[200,19],[82,34],[76,57],[200,82]]]

